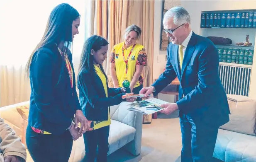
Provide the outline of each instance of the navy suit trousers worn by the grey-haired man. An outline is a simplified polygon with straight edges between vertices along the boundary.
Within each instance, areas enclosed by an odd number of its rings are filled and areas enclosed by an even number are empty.
[[[180,115],[181,162],[213,162],[219,127],[205,123],[195,124],[190,116]]]

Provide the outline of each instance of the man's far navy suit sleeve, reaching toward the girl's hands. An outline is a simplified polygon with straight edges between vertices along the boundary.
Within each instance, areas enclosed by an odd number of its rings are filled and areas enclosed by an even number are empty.
[[[170,44],[167,47],[167,63],[166,63],[166,69],[165,71],[160,75],[160,77],[158,78],[158,80],[156,80],[156,82],[153,83],[152,86],[155,87],[156,92],[154,92],[154,96],[156,96],[159,92],[161,92],[161,90],[166,87],[168,84],[170,84],[176,77],[176,72],[173,69],[173,66],[171,64],[171,60],[170,60]]]

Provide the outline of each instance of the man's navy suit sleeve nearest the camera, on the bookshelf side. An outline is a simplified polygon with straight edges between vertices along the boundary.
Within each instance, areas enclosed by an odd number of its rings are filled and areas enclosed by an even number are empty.
[[[219,56],[214,46],[206,47],[199,56],[198,85],[185,97],[177,101],[178,108],[189,113],[197,108],[207,106],[215,95],[216,82],[219,79]]]

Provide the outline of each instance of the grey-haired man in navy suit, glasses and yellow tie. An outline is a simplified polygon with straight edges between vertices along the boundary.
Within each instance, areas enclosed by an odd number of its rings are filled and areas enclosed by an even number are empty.
[[[157,95],[176,77],[179,100],[162,105],[171,114],[179,110],[182,133],[181,162],[212,162],[219,126],[229,121],[227,96],[219,78],[219,56],[212,42],[190,28],[190,15],[173,7],[163,18],[163,31],[171,39],[166,70],[140,94]]]

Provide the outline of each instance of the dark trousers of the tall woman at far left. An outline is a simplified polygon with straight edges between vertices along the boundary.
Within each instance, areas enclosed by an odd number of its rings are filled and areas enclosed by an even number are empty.
[[[26,144],[34,162],[68,162],[73,139],[69,131],[62,135],[40,134],[27,127]]]

